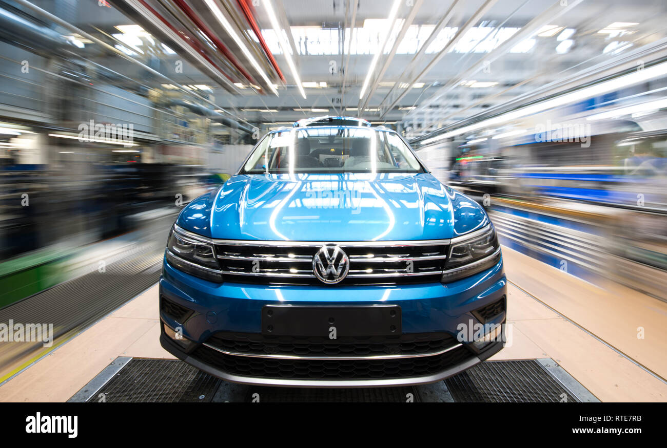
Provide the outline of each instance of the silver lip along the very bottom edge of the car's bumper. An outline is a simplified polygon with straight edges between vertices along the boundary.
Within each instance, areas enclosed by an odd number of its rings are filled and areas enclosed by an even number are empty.
[[[190,365],[210,373],[213,376],[231,381],[233,383],[250,384],[250,385],[266,385],[266,386],[283,386],[283,387],[387,387],[387,386],[401,386],[401,385],[418,385],[435,383],[441,379],[456,375],[473,365],[476,365],[482,360],[477,356],[471,356],[470,359],[452,365],[448,369],[434,373],[432,375],[425,375],[420,377],[406,377],[406,378],[370,378],[370,379],[289,379],[289,378],[265,378],[265,377],[249,377],[243,375],[235,375],[227,373],[217,367],[205,364],[198,359],[188,356],[184,361]]]

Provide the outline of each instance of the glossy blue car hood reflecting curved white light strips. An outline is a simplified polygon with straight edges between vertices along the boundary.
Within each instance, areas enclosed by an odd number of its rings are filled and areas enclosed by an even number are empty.
[[[224,240],[453,238],[488,224],[474,200],[422,174],[239,174],[177,224]]]

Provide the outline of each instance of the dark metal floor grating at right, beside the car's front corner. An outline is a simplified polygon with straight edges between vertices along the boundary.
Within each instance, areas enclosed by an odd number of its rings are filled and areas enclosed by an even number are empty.
[[[446,379],[445,383],[457,402],[579,401],[534,359],[486,361]]]

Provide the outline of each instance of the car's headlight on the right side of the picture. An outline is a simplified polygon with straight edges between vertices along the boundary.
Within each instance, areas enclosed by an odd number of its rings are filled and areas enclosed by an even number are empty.
[[[486,232],[474,232],[474,235],[468,238],[456,238],[452,241],[441,281],[449,283],[478,274],[496,266],[498,261],[500,244],[496,229],[490,224]]]

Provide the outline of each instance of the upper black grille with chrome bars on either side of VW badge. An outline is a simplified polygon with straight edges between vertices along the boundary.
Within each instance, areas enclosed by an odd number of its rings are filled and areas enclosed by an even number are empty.
[[[449,247],[438,241],[336,244],[350,258],[350,272],[338,285],[438,282]],[[283,246],[217,241],[215,250],[227,281],[321,285],[313,274],[313,256],[323,245],[325,242]]]

